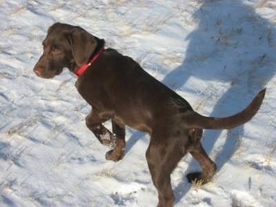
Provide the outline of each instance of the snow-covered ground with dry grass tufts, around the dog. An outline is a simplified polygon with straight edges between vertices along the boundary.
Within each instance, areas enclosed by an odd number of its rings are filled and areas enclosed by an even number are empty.
[[[206,186],[188,155],[172,173],[175,206],[276,206],[276,3],[221,1],[0,1],[0,206],[155,206],[149,136],[127,128],[126,156],[106,161],[86,128],[90,106],[64,70],[32,72],[48,26],[81,26],[138,61],[197,112],[224,117],[267,87],[244,126],[206,130],[218,169]],[[110,123],[106,124],[110,127]]]

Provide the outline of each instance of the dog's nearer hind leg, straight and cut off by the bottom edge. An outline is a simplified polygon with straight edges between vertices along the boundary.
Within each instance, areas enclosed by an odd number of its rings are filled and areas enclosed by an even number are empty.
[[[164,142],[164,137],[151,136],[150,146],[146,151],[146,159],[148,168],[152,177],[152,182],[157,188],[159,207],[172,206],[175,202],[175,197],[172,193],[170,184],[170,174],[177,166],[177,163],[184,156],[183,150],[180,149],[177,143]],[[162,140],[160,142],[160,140]],[[170,144],[169,144],[170,143]]]

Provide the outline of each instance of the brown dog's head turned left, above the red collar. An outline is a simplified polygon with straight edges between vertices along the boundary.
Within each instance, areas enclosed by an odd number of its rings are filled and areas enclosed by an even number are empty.
[[[45,79],[59,75],[63,68],[76,72],[103,44],[103,39],[94,37],[82,28],[55,23],[50,26],[46,39],[42,42],[43,55],[33,71]]]

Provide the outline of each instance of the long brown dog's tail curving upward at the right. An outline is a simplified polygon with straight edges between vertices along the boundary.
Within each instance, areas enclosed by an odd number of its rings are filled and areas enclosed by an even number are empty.
[[[204,117],[197,112],[187,113],[184,117],[185,126],[188,128],[203,129],[230,129],[245,124],[255,116],[262,105],[266,88],[260,91],[251,103],[241,112],[224,118]]]

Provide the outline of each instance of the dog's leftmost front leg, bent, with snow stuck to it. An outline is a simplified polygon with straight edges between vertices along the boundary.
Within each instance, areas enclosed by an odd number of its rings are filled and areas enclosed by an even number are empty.
[[[97,112],[97,109],[93,109],[86,117],[86,126],[93,132],[95,137],[99,139],[101,144],[108,147],[114,147],[116,145],[115,135],[101,124],[107,120],[108,116],[103,117]]]

